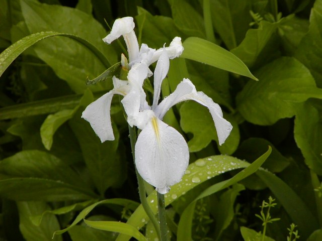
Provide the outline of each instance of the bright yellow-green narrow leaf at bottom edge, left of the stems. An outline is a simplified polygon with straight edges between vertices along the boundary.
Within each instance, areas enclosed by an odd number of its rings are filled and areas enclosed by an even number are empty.
[[[84,219],[84,222],[90,227],[97,228],[105,231],[119,232],[125,235],[129,235],[135,237],[139,241],[146,241],[147,239],[144,237],[139,230],[137,230],[132,225],[129,225],[124,222],[116,222],[116,221],[90,221]]]

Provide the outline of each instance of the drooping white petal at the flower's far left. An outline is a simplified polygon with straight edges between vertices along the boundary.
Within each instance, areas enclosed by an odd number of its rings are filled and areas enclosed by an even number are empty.
[[[112,90],[104,94],[88,105],[82,113],[82,118],[91,124],[102,143],[114,140],[110,116],[111,101],[114,93]]]

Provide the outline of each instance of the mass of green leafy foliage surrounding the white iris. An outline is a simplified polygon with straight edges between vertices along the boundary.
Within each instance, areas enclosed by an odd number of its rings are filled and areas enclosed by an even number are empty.
[[[149,47],[182,38],[163,96],[190,78],[233,125],[218,146],[201,105],[164,117],[186,138],[191,163],[166,195],[172,240],[258,240],[255,214],[269,196],[281,220],[265,240],[286,240],[291,223],[299,240],[322,240],[321,0],[0,0],[0,239],[156,237],[139,205],[120,99],[115,141],[100,143],[81,118],[119,74],[124,42],[102,38],[125,16]],[[144,88],[151,97],[149,80]]]

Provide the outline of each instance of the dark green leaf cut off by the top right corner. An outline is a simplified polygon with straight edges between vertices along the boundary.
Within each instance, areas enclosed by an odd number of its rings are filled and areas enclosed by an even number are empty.
[[[295,52],[295,58],[301,61],[312,73],[318,87],[322,87],[322,1],[317,0],[311,10],[310,25]]]

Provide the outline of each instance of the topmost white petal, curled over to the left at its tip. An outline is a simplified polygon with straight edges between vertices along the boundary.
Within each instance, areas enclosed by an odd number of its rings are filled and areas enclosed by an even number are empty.
[[[134,63],[139,56],[139,45],[133,30],[134,26],[135,25],[132,17],[117,19],[113,24],[111,33],[103,39],[105,43],[110,44],[123,35],[127,52],[129,54],[130,65]]]

